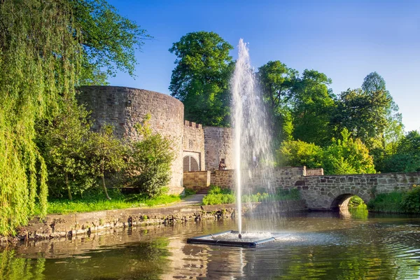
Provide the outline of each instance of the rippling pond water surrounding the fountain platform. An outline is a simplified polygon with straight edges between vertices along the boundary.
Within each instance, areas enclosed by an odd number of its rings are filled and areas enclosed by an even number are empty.
[[[246,218],[245,218],[245,223]],[[418,279],[420,218],[309,212],[282,216],[257,248],[186,244],[235,221],[134,228],[29,242],[0,252],[0,279]]]

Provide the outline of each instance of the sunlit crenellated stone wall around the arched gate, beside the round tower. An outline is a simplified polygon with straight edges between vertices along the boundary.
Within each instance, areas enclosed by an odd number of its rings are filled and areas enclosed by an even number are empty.
[[[201,171],[206,170],[204,161],[204,130],[202,125],[188,120],[184,121],[183,127],[183,157],[185,158],[186,156],[195,158]]]

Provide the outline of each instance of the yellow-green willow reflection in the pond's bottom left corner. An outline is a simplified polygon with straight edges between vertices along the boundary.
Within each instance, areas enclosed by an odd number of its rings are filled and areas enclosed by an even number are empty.
[[[9,280],[41,280],[45,279],[45,258],[31,260],[18,258],[14,250],[0,252],[0,279]]]

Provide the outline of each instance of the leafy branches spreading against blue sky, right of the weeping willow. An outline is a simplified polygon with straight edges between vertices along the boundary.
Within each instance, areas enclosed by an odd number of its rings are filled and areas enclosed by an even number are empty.
[[[80,29],[74,36],[82,46],[80,84],[106,84],[106,78],[118,70],[134,76],[134,52],[151,38],[146,30],[119,15],[105,0],[71,0],[69,4]]]

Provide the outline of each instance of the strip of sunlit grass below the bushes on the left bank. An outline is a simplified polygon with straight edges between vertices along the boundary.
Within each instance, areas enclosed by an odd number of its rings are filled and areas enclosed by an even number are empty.
[[[48,214],[71,214],[113,209],[127,209],[134,207],[156,207],[181,201],[179,195],[160,195],[147,198],[144,195],[122,195],[118,191],[111,191],[112,200],[106,200],[101,193],[85,195],[75,200],[50,200],[48,201]],[[35,215],[40,214],[36,207]]]

